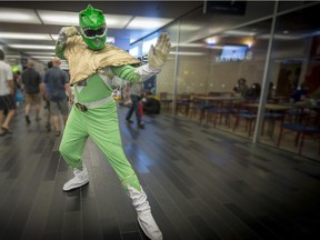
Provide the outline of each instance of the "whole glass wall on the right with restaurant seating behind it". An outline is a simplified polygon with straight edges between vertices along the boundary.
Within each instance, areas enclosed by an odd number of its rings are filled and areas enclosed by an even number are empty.
[[[168,93],[173,116],[298,153],[301,138],[296,146],[282,127],[317,112],[292,93],[303,83],[303,100],[320,86],[320,3],[242,3],[207,6],[161,30],[172,48],[157,94]],[[318,144],[306,138],[300,153],[318,159]]]

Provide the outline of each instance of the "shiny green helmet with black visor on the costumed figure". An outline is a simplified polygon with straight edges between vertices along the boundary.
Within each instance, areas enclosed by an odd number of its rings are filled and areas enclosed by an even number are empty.
[[[83,41],[92,50],[100,50],[104,47],[107,39],[107,26],[101,10],[88,6],[79,13],[80,33]]]

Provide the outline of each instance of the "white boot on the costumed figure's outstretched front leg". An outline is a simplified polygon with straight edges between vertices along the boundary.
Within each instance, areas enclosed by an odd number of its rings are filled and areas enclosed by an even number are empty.
[[[130,186],[128,186],[128,190],[132,204],[138,212],[138,222],[141,229],[151,240],[162,240],[162,233],[151,214],[151,208],[142,187],[141,192]]]

